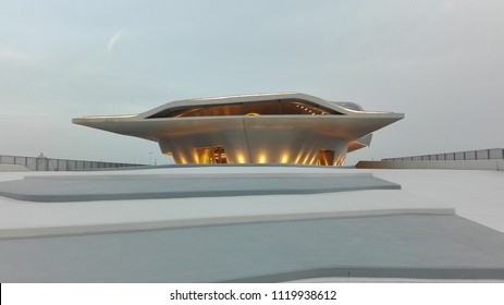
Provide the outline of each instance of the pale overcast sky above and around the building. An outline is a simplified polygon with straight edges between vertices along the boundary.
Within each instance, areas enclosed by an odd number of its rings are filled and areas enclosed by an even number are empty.
[[[504,147],[504,1],[0,0],[0,154],[165,162],[73,125],[300,91],[406,118],[348,161]]]

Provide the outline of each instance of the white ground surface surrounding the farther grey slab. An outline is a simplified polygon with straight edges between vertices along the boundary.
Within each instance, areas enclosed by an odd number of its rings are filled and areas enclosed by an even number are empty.
[[[372,173],[402,185],[396,190],[310,195],[262,195],[149,200],[29,203],[0,196],[0,230],[165,220],[212,219],[397,209],[456,209],[457,215],[504,232],[504,173],[450,170],[354,170],[290,167],[165,168],[113,171],[118,175],[243,173]],[[25,176],[94,176],[103,172],[3,172],[0,181]]]

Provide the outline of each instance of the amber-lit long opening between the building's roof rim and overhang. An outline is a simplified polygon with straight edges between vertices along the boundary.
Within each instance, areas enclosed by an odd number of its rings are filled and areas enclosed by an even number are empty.
[[[184,106],[160,111],[147,119],[222,115],[334,115],[335,110],[302,100],[268,100],[226,105]]]

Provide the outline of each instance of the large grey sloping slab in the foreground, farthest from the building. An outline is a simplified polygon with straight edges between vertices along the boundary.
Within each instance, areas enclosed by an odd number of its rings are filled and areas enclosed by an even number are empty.
[[[382,216],[0,241],[1,282],[504,279],[504,234],[457,216]]]

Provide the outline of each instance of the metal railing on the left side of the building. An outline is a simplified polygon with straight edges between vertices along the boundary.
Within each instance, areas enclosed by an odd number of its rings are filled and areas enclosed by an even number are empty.
[[[47,158],[44,155],[39,157],[0,155],[0,164],[19,164],[33,171],[86,171],[145,166],[136,163],[53,159]]]

